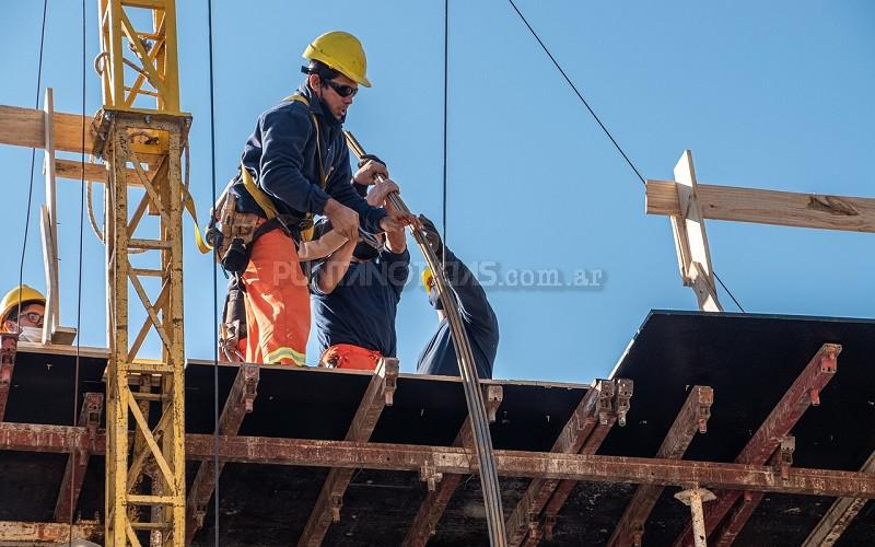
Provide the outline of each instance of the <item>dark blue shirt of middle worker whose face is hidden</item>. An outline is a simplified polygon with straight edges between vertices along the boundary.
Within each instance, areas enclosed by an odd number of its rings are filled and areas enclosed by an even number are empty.
[[[319,353],[335,344],[351,344],[395,357],[395,315],[410,272],[410,253],[382,251],[364,263],[350,263],[343,279],[328,294],[316,287],[322,263],[313,269],[311,300]]]

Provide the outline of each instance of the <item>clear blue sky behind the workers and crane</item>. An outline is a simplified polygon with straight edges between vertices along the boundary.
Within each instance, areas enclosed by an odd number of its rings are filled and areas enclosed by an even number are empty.
[[[364,44],[374,83],[357,96],[347,127],[389,164],[408,205],[440,221],[443,2],[301,5],[214,2],[217,184],[232,175],[257,115],[300,83],[308,40],[346,30]],[[703,183],[875,196],[872,2],[517,5],[645,177],[672,178],[691,149]],[[80,9],[49,2],[43,86],[55,89],[61,112],[81,109]],[[96,2],[86,9],[91,115],[101,105],[91,68]],[[506,1],[451,0],[450,9],[450,246],[505,281],[512,271],[556,270],[564,279],[602,272],[598,288],[488,287],[502,334],[495,375],[605,376],[651,309],[696,307],[680,282],[668,220],[644,214],[640,182]],[[33,107],[42,2],[10,2],[3,12],[0,31],[15,55],[0,62],[0,104]],[[192,194],[202,216],[212,184],[206,1],[179,2],[178,26],[182,102],[195,118]],[[18,280],[30,156],[0,148],[9,222],[2,290]],[[43,199],[40,159],[38,152],[35,203]],[[61,323],[74,325],[79,183],[59,181],[58,193]],[[45,289],[37,211],[35,205],[24,278]],[[103,346],[104,252],[85,230],[81,340]],[[708,234],[715,270],[748,312],[875,314],[872,234],[712,221]],[[187,354],[211,358],[212,263],[190,238],[185,261]],[[722,301],[734,309],[725,294]],[[411,282],[398,315],[404,371],[413,370],[435,324]]]

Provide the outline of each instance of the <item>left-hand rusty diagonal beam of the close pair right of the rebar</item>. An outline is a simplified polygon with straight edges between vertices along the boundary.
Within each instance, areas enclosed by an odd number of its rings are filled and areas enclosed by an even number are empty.
[[[579,453],[593,432],[596,421],[608,421],[615,391],[616,383],[614,381],[596,380],[581,398],[562,431],[559,432],[550,452]],[[540,512],[550,500],[557,486],[559,486],[558,480],[537,478],[528,485],[526,492],[511,512],[504,526],[508,531],[508,545],[517,546],[523,543],[532,532],[533,524],[537,523],[540,517]]]

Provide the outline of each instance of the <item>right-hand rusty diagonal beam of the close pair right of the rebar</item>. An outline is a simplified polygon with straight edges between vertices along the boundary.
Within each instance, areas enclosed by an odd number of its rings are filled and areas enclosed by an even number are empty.
[[[626,414],[629,411],[629,401],[632,398],[633,383],[631,380],[626,379],[617,379],[615,382],[616,387],[614,398],[611,399],[610,412],[604,416],[599,415],[598,423],[580,450],[580,454],[582,455],[594,455],[598,452],[598,449],[608,437],[615,423],[619,422],[620,427],[626,426]],[[544,508],[544,514],[537,523],[538,525],[533,527],[529,533],[529,538],[525,543],[527,547],[538,545],[544,537],[548,540],[552,539],[556,515],[559,514],[562,505],[565,504],[568,497],[571,496],[571,491],[574,490],[576,484],[578,480],[563,480],[556,487],[556,491]]]

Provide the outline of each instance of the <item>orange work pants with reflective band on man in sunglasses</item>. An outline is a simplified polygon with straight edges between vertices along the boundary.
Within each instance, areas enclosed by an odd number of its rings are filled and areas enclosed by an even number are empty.
[[[294,242],[271,230],[253,245],[246,288],[246,362],[306,364],[310,291]]]

